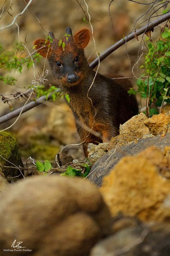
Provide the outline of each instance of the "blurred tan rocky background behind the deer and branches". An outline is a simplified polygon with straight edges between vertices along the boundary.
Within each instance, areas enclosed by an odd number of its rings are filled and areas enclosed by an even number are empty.
[[[29,1],[24,0],[0,0],[0,27],[10,24],[13,16],[20,13]],[[86,0],[89,6],[89,13],[91,16],[91,24],[94,30],[94,38],[98,53],[102,53],[113,43],[129,34],[134,26],[136,29],[147,24],[148,17],[159,8],[151,8],[151,1],[141,1],[143,4],[135,3],[127,0]],[[158,1],[159,2],[159,1]],[[144,4],[145,3],[145,4]],[[148,5],[146,5],[148,3]],[[110,4],[110,15],[109,15]],[[80,6],[81,5],[81,6]],[[154,5],[156,6],[156,5]],[[162,14],[163,9],[157,10],[152,16]],[[84,19],[85,17],[85,19]],[[29,9],[18,17],[16,23],[19,26],[19,33],[16,24],[0,31],[0,44],[5,50],[12,50],[13,44],[17,41],[22,41],[30,52],[33,51],[33,42],[38,38],[46,38],[47,33],[52,31],[55,37],[60,39],[65,34],[66,27],[71,27],[73,34],[83,27],[91,30],[88,22],[88,14],[83,0],[33,0]],[[155,20],[151,18],[151,20]],[[160,27],[154,29],[152,33],[152,40],[155,41],[160,34]],[[18,38],[19,36],[19,38]],[[99,73],[108,75],[139,76],[140,68],[137,65],[134,67],[134,74],[132,67],[137,62],[141,55],[141,38],[133,39],[127,43],[127,46],[121,46],[118,50],[113,52],[107,59],[105,59],[99,68]],[[147,52],[146,35],[143,37],[143,56],[139,61],[138,67],[143,64],[143,57]],[[24,57],[28,52],[25,51],[22,55]],[[91,38],[89,45],[85,48],[85,54],[89,63],[96,58],[94,52],[94,42]],[[38,72],[42,72],[44,66],[44,59],[41,64],[36,65],[35,74],[38,77]],[[55,80],[51,74],[48,63],[46,68],[49,70],[48,81],[49,84],[56,85]],[[4,74],[3,70],[0,75]],[[23,92],[34,79],[34,70],[30,68],[23,68],[20,73],[6,73],[5,75],[13,75],[16,79],[16,86],[4,85],[0,81],[0,94],[8,94],[15,92]],[[134,87],[136,87],[137,79],[130,78]],[[56,85],[57,86],[57,85]],[[0,98],[1,99],[1,98]],[[16,109],[23,106],[25,101],[12,101],[10,107],[8,104],[0,102],[0,116],[10,112],[10,108]],[[139,102],[141,104],[141,102]],[[16,118],[0,125],[0,130],[11,125]],[[76,144],[80,142],[77,135],[74,117],[63,99],[56,102],[47,102],[41,104],[32,110],[25,112],[19,118],[18,122],[9,129],[17,138],[20,145],[23,162],[28,157],[36,160],[54,161],[57,152],[67,144]],[[63,150],[61,160],[63,163],[70,162],[72,158],[84,158],[80,148],[70,146]]]

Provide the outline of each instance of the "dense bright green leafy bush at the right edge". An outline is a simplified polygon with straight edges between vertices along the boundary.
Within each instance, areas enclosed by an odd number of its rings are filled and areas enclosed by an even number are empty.
[[[145,64],[141,66],[145,70],[137,80],[138,89],[135,91],[130,88],[128,93],[138,92],[142,98],[150,97],[151,116],[159,113],[157,107],[160,107],[163,101],[170,103],[170,29],[165,27],[159,41],[148,43],[148,47]]]

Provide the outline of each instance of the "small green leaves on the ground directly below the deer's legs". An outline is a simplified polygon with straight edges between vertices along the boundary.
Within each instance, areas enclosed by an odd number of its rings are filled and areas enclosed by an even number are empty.
[[[80,169],[73,168],[72,166],[67,167],[66,172],[61,173],[60,176],[69,176],[71,178],[75,176],[86,177],[90,172],[90,166],[87,163],[80,164]]]

